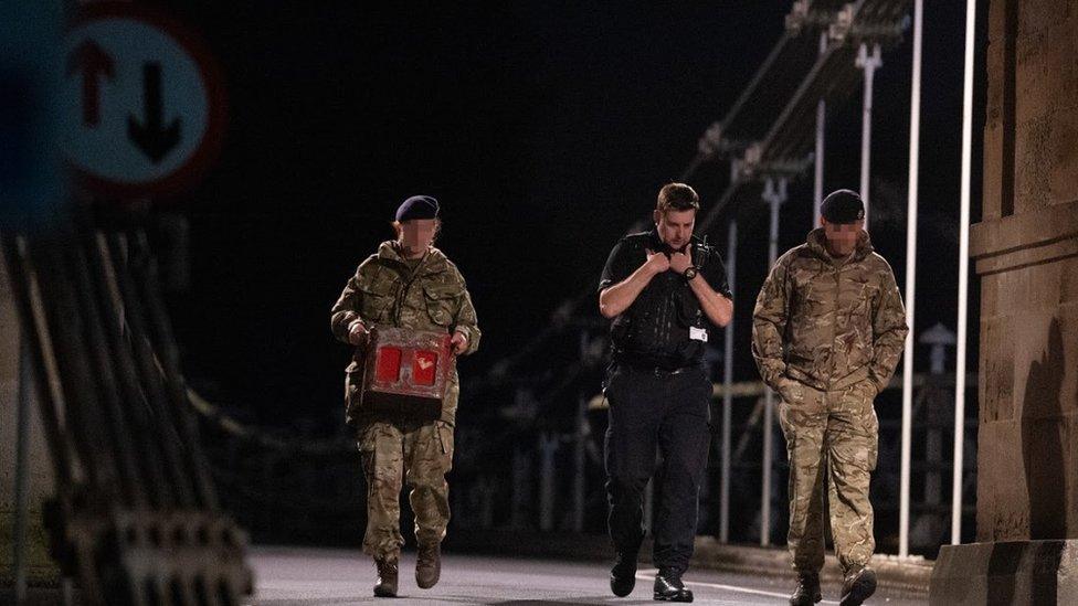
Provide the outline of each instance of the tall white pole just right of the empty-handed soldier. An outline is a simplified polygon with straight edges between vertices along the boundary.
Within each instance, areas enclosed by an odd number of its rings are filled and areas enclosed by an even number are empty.
[[[913,84],[910,93],[909,201],[906,210],[906,336],[902,360],[902,464],[898,509],[898,555],[909,555],[910,450],[913,424],[913,306],[917,277],[917,188],[921,146],[921,20],[922,1],[913,4]]]

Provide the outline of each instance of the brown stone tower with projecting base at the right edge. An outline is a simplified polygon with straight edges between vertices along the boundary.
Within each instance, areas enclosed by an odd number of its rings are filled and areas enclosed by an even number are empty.
[[[933,604],[1078,604],[1078,0],[991,0],[977,543]]]

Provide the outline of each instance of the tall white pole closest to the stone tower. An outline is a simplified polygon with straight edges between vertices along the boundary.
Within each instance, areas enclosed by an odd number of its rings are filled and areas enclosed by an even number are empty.
[[[976,0],[965,6],[965,74],[962,92],[962,195],[959,216],[959,334],[954,364],[954,487],[951,503],[951,544],[962,542],[962,449],[965,447],[965,323],[970,289],[970,166],[973,161],[973,44],[976,39]]]

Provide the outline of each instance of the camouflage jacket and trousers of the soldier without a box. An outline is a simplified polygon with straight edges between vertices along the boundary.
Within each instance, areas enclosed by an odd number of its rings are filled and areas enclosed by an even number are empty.
[[[771,269],[753,311],[752,355],[782,396],[793,565],[808,573],[823,566],[826,481],[835,552],[849,573],[868,564],[876,546],[873,400],[895,372],[908,328],[895,275],[868,234],[844,259],[827,254],[824,242],[814,230]]]

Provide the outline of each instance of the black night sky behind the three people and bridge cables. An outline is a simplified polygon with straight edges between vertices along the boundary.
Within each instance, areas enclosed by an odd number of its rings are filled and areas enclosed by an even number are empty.
[[[790,8],[169,4],[216,56],[230,105],[219,162],[172,203],[191,220],[191,287],[171,296],[186,371],[246,418],[281,425],[340,419],[349,351],[329,332],[329,308],[392,235],[404,198],[442,202],[438,246],[465,275],[485,333],[462,363],[467,380],[595,284],[619,235],[681,173]],[[964,14],[962,3],[927,4],[918,330],[954,328],[958,275]],[[873,145],[873,236],[900,285],[910,54],[908,40],[885,53]],[[977,116],[977,138],[982,127]],[[859,91],[832,108],[827,136],[825,189],[857,189]],[[727,170],[707,164],[689,180],[705,210]],[[810,174],[783,209],[782,249],[803,242],[811,198]],[[750,202],[739,211],[740,380],[757,376],[748,320],[767,272],[764,209]],[[711,234],[723,251],[725,233],[723,222]]]

